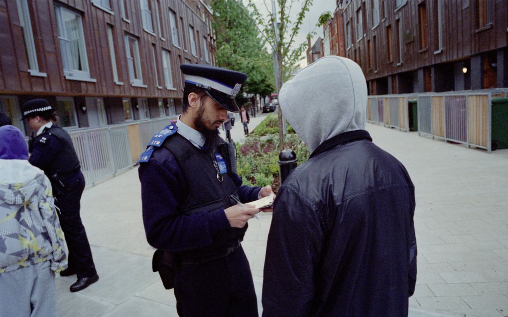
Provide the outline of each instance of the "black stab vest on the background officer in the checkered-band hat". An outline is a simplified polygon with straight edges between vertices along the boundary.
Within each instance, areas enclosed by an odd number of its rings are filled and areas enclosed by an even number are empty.
[[[72,139],[69,133],[66,130],[62,129],[57,125],[52,125],[49,129],[44,129],[44,132],[37,136],[34,140],[34,144],[39,142],[40,138],[47,135],[52,134],[58,138],[61,143],[61,149],[56,154],[53,163],[48,165],[44,173],[46,175],[53,175],[57,173],[60,177],[65,176],[77,170],[77,166],[79,164],[79,159],[74,150],[74,145],[72,144]]]

